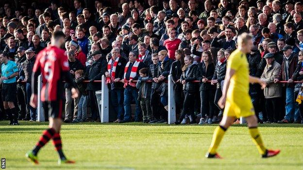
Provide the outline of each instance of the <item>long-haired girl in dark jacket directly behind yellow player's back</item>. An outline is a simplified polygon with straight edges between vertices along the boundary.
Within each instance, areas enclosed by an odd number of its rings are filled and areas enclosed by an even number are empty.
[[[216,118],[217,116],[222,117],[222,115],[223,115],[223,109],[221,109],[218,106],[218,101],[222,96],[222,87],[223,87],[223,82],[224,82],[225,73],[226,73],[226,63],[227,63],[227,59],[224,56],[224,50],[221,49],[218,51],[218,62],[216,64],[214,77],[211,80],[212,85],[217,85],[214,103],[220,110],[219,115],[214,115],[214,118]],[[215,114],[216,114],[216,112],[215,112]],[[213,122],[217,122],[218,117],[216,119],[217,120],[213,120]]]

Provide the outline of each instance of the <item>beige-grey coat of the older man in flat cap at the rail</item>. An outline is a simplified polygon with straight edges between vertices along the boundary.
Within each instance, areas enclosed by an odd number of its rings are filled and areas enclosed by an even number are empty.
[[[279,83],[273,83],[273,80],[279,76],[281,65],[274,61],[273,64],[267,65],[261,76],[261,80],[265,81],[268,85],[264,89],[265,98],[274,98],[282,96],[282,86]]]

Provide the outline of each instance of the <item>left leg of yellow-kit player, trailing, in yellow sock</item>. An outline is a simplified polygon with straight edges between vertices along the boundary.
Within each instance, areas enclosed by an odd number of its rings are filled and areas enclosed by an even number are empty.
[[[223,139],[225,131],[228,129],[229,126],[231,126],[234,123],[234,121],[235,121],[235,117],[223,115],[222,121],[220,122],[219,126],[216,128],[214,132],[212,142],[210,144],[210,147],[205,157],[221,158],[221,156],[217,153],[217,149],[219,147],[221,140]]]

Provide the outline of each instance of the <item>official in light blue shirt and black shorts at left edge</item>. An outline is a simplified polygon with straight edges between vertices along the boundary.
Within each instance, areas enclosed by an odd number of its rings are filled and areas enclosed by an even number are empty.
[[[18,68],[15,62],[8,60],[8,53],[0,53],[1,65],[1,78],[2,83],[2,101],[4,105],[5,113],[10,120],[10,125],[19,124],[17,118],[18,113],[16,111],[14,102],[17,101],[17,82],[16,76],[18,76]]]

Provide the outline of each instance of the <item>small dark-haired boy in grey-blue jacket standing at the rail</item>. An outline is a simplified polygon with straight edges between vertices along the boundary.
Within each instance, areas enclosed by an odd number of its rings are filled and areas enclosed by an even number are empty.
[[[136,88],[139,89],[138,101],[140,101],[143,112],[143,123],[149,123],[152,120],[151,108],[151,92],[152,84],[146,83],[148,80],[148,68],[139,70],[140,77],[138,78]]]

